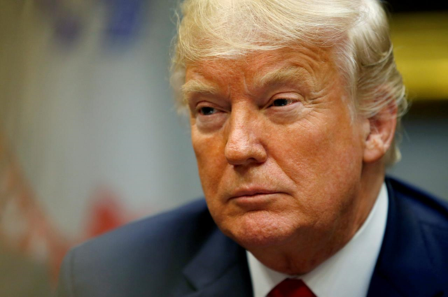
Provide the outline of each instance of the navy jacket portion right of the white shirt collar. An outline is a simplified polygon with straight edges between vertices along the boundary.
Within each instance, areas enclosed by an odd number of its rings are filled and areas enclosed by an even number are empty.
[[[367,296],[448,293],[447,203],[393,178],[386,185],[386,231]]]

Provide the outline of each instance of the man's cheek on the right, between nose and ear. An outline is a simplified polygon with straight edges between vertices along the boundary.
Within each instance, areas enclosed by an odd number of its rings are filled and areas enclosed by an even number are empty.
[[[359,182],[363,158],[349,122],[302,122],[288,127],[281,137],[272,155],[295,184],[295,196],[306,201],[305,211],[332,217],[335,209],[345,208]]]

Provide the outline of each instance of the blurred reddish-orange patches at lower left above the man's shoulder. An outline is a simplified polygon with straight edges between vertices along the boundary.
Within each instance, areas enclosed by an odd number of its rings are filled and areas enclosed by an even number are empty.
[[[1,132],[1,131],[0,131]],[[25,173],[0,133],[0,247],[37,263],[47,263],[53,285],[70,247],[139,217],[125,209],[109,187],[98,187],[85,212],[85,229],[76,238],[59,231],[36,199]]]

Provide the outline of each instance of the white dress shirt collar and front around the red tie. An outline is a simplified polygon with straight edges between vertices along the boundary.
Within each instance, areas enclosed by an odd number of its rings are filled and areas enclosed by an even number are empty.
[[[383,242],[387,210],[388,194],[383,183],[377,201],[355,236],[314,270],[297,278],[318,297],[366,296]],[[254,297],[265,297],[282,280],[295,278],[267,268],[250,252],[246,254]]]

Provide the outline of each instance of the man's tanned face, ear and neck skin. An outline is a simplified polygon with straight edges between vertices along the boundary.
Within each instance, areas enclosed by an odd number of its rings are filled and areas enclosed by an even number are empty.
[[[293,78],[276,75],[291,71]],[[384,180],[395,119],[352,119],[343,86],[330,52],[311,46],[186,69],[210,213],[225,235],[282,273],[307,273],[341,249]]]

